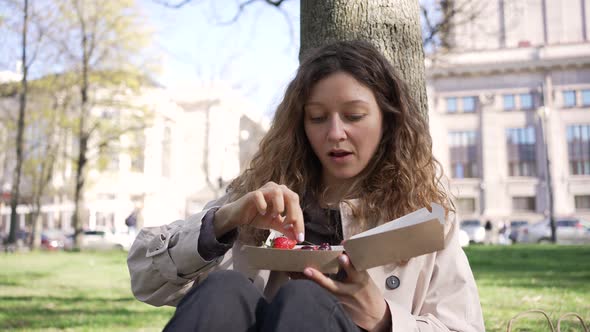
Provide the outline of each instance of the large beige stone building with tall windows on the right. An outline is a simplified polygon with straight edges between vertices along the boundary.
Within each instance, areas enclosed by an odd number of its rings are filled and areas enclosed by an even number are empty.
[[[433,149],[460,218],[590,217],[590,2],[498,0],[427,60]],[[548,186],[550,184],[550,186]]]

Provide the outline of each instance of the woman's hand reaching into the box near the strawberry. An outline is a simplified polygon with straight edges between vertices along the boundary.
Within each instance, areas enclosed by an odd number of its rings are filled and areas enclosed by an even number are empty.
[[[274,182],[222,206],[215,213],[217,238],[240,225],[274,229],[298,242],[305,240],[299,195]]]

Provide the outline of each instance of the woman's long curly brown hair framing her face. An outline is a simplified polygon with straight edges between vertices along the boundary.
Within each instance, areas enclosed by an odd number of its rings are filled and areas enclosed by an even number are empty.
[[[286,185],[300,197],[313,195],[322,200],[322,165],[304,131],[304,106],[315,84],[337,72],[370,88],[383,114],[379,146],[344,197],[356,220],[351,231],[373,228],[430,206],[430,202],[453,211],[441,183],[442,168],[432,155],[427,119],[389,61],[364,41],[336,42],[308,53],[249,168],[229,185],[230,201],[269,181]],[[358,202],[350,204],[355,198]],[[248,226],[240,228],[240,239],[246,243],[259,242],[267,234]]]

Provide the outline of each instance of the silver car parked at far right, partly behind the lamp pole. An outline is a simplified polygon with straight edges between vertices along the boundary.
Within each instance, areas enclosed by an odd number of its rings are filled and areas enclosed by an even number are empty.
[[[559,218],[555,220],[555,236],[560,244],[590,243],[590,223],[579,218]],[[551,241],[551,225],[545,219],[531,226],[521,227],[517,236],[518,242],[549,243]]]

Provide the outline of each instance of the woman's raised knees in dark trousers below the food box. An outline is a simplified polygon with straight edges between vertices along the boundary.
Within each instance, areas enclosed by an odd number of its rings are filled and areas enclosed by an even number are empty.
[[[193,287],[164,331],[361,331],[336,298],[309,280],[292,280],[268,303],[244,275],[211,273]]]

